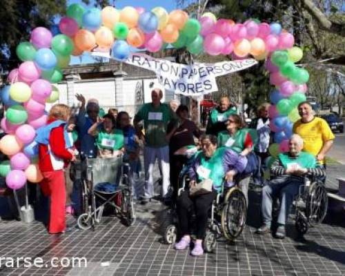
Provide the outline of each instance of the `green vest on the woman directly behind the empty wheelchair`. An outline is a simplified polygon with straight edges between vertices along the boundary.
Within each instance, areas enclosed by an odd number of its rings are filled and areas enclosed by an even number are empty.
[[[116,128],[111,133],[101,130],[97,135],[96,145],[100,149],[119,150],[124,147],[124,132]]]

